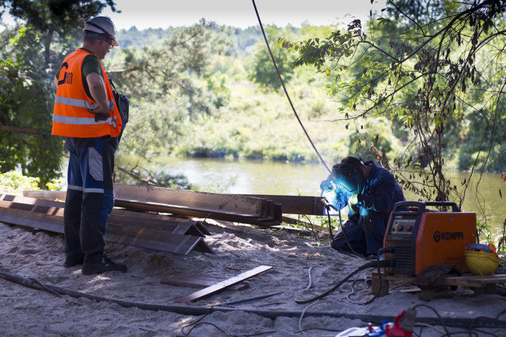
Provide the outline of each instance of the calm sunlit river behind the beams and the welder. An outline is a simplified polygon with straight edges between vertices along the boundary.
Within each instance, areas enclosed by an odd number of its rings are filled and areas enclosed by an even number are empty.
[[[280,194],[319,196],[319,184],[328,176],[323,164],[284,163],[279,161],[251,161],[227,159],[187,159],[158,156],[147,161],[133,156],[118,156],[118,164],[140,165],[149,170],[165,171],[167,174],[187,176],[189,183],[202,192],[231,194]],[[329,165],[330,167],[330,165]],[[468,173],[450,172],[450,178],[467,178]],[[478,176],[475,174],[466,192],[463,212],[476,212],[481,221],[482,208],[487,213],[487,223],[493,236],[503,227],[506,218],[506,183],[498,173],[483,174],[478,198],[474,192]],[[460,183],[454,181],[460,186]],[[499,189],[505,192],[500,198]],[[405,192],[407,200],[417,196]]]

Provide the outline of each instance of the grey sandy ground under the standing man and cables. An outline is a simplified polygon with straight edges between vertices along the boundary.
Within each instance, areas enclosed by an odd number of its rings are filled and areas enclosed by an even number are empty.
[[[378,324],[382,318],[415,306],[420,321],[435,324],[439,315],[453,327],[447,327],[447,335],[442,325],[415,327],[414,336],[506,336],[505,314],[498,318],[502,328],[482,327],[474,329],[476,334],[456,334],[467,331],[456,325],[467,325],[476,316],[494,318],[505,310],[506,297],[498,294],[476,295],[459,287],[441,294],[447,298],[423,301],[416,292],[405,292],[411,285],[392,283],[390,294],[361,305],[372,298],[368,284],[361,280],[372,269],[357,273],[351,278],[356,282],[344,284],[321,300],[299,305],[295,299],[323,293],[366,261],[340,254],[328,241],[318,243],[286,231],[231,223],[206,227],[211,236],[205,241],[215,254],[191,252],[183,256],[107,243],[107,256],[126,263],[128,272],[86,276],[80,267],[63,267],[61,234],[33,233],[29,228],[0,223],[1,272],[101,298],[154,304],[159,309],[59,297],[0,278],[0,336],[336,336],[368,321]],[[187,304],[174,300],[198,289],[160,283],[162,278],[182,274],[231,278],[260,265],[273,268],[249,278],[248,289],[225,289]],[[310,267],[313,287],[305,289]],[[176,313],[180,310],[186,310],[185,314]]]

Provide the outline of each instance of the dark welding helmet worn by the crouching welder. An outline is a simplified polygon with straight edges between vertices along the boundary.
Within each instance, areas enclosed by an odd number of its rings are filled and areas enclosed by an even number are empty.
[[[358,159],[356,162],[343,160],[332,167],[332,174],[335,176],[334,183],[339,190],[348,195],[363,191],[366,177],[363,175],[362,165],[362,161]]]

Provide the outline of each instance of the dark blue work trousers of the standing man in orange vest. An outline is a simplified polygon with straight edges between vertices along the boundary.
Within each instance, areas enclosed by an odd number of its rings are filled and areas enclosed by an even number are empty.
[[[105,249],[105,225],[114,206],[112,173],[118,139],[66,139],[70,152],[63,215],[67,261],[98,263]]]

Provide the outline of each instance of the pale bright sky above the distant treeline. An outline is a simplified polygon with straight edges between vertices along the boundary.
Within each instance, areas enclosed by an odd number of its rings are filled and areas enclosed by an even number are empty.
[[[263,25],[275,24],[284,27],[288,23],[300,27],[331,25],[352,17],[366,20],[371,9],[381,9],[385,0],[255,0]],[[112,19],[116,28],[138,30],[147,28],[169,28],[198,23],[202,18],[219,25],[248,28],[258,25],[252,0],[117,0],[113,13],[109,8],[101,15]]]

